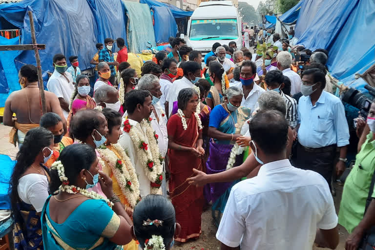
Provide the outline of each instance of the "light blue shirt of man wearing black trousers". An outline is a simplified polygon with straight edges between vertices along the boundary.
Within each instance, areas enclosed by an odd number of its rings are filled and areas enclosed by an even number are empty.
[[[302,146],[318,148],[349,144],[349,126],[341,100],[323,90],[312,106],[310,96],[302,96],[298,103],[298,142]]]

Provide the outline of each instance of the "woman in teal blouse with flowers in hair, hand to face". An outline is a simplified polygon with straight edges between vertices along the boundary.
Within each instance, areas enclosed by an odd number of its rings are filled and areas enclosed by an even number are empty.
[[[98,162],[93,147],[74,144],[65,147],[53,164],[53,195],[42,211],[45,249],[114,250],[132,240],[132,222]],[[98,181],[109,199],[87,190]]]

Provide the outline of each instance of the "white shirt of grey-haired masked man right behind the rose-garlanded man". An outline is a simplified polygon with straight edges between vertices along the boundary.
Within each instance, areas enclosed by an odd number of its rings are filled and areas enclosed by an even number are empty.
[[[160,101],[157,102],[154,106],[156,113],[158,114],[159,122],[155,117],[154,112],[151,113],[150,117],[152,118],[151,126],[155,130],[158,138],[158,146],[160,154],[165,157],[168,150],[168,132],[167,132],[167,115],[163,111]],[[164,116],[163,116],[164,115]]]

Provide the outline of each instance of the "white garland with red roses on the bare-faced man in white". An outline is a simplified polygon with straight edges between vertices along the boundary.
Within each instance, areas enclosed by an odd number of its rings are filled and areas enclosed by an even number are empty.
[[[149,145],[146,143],[143,133],[130,125],[128,119],[124,122],[124,131],[129,134],[130,139],[136,147],[137,156],[144,164],[146,177],[151,182],[151,194],[156,194],[163,181],[163,166],[160,161],[159,146],[149,121],[143,120],[140,125],[141,128],[146,128]]]

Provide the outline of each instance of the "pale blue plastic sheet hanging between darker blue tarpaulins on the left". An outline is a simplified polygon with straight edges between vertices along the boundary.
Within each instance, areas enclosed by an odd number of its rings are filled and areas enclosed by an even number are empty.
[[[156,46],[150,8],[147,4],[124,1],[125,11],[128,16],[128,48],[133,53],[140,53],[151,43]]]

